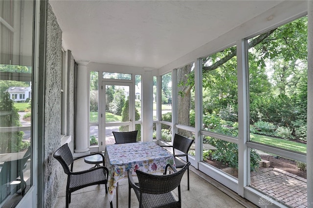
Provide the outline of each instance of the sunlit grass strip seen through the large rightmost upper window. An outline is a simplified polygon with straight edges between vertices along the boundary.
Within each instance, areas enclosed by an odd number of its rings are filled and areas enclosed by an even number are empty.
[[[278,139],[273,137],[268,137],[265,135],[259,135],[259,134],[250,134],[251,141],[270,145],[270,146],[277,146],[297,152],[307,153],[307,145],[294,142],[292,140],[284,140],[284,139]]]

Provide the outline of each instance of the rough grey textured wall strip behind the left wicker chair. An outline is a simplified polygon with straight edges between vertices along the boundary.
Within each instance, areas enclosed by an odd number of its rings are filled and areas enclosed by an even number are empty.
[[[44,207],[52,208],[56,203],[59,187],[64,181],[60,179],[63,179],[65,174],[60,163],[53,158],[53,153],[60,147],[61,142],[62,31],[49,3],[45,69]]]

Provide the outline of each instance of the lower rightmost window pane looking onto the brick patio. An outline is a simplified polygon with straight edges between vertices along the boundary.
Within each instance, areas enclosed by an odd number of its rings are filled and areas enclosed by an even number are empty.
[[[250,187],[262,197],[290,207],[307,207],[306,163],[259,151],[262,158],[257,171],[250,173]]]

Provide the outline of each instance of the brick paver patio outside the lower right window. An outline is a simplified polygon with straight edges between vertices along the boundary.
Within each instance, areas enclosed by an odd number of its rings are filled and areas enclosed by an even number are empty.
[[[251,172],[251,187],[293,208],[307,207],[307,179],[281,169],[261,167]]]

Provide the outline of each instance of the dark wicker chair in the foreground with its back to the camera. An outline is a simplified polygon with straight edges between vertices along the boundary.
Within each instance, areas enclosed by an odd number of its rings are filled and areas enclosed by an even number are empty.
[[[180,181],[189,165],[190,162],[177,171],[175,167],[168,164],[163,175],[136,170],[139,183],[134,182],[132,171],[128,170],[128,207],[131,207],[131,189],[133,188],[139,201],[139,208],[181,208]],[[166,175],[169,166],[174,173]],[[171,193],[175,188],[178,188],[178,201]]]

